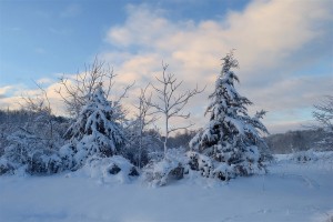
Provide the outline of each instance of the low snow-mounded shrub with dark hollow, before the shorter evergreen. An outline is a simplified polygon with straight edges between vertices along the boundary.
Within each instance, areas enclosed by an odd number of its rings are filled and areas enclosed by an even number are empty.
[[[82,171],[90,178],[99,179],[105,183],[128,183],[133,176],[139,175],[137,168],[129,160],[120,155],[89,158]]]

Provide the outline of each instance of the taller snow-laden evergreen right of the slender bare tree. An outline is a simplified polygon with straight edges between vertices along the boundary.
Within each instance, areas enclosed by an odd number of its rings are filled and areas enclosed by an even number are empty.
[[[265,111],[250,117],[246,105],[252,102],[235,90],[234,83],[239,82],[239,78],[232,69],[238,68],[239,62],[233,52],[222,60],[222,71],[214,92],[209,97],[211,103],[205,112],[210,113],[209,124],[190,141],[190,148],[212,159],[213,167],[205,168],[210,172],[202,174],[229,180],[264,171],[259,144],[264,143],[260,132],[268,133],[268,130],[260,121]],[[200,170],[195,169],[200,165],[195,162],[195,152],[189,155],[192,170]]]

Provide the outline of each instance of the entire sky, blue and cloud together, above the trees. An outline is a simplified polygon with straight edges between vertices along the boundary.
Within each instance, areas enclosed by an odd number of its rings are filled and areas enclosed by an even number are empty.
[[[266,110],[271,133],[303,129],[333,94],[332,14],[332,0],[0,0],[0,108],[18,108],[38,82],[63,114],[59,78],[98,57],[118,74],[114,98],[135,81],[123,100],[133,110],[163,61],[182,90],[205,87],[186,107],[202,128],[221,58],[235,49],[249,112]]]

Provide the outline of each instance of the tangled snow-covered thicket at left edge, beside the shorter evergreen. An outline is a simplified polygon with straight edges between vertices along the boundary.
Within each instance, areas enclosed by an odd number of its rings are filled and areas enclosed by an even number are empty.
[[[27,99],[24,109],[4,112],[0,120],[0,174],[63,170],[58,151],[64,144],[67,123],[67,119],[51,113],[43,99]]]

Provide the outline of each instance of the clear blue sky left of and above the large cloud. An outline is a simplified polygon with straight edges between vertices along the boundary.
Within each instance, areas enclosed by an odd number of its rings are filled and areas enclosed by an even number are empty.
[[[124,22],[130,4],[168,10],[171,20],[200,21],[241,9],[244,2],[1,0],[1,85],[32,87],[31,79],[73,73],[95,54],[112,50],[104,37],[110,27]]]

